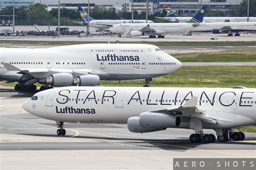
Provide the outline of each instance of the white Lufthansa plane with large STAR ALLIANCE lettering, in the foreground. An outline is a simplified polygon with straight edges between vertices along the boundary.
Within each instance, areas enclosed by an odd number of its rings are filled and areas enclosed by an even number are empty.
[[[194,129],[190,141],[244,140],[233,128],[256,125],[256,89],[62,87],[41,91],[23,104],[31,114],[56,121],[57,134],[65,135],[64,122],[127,123],[131,132],[166,128]]]

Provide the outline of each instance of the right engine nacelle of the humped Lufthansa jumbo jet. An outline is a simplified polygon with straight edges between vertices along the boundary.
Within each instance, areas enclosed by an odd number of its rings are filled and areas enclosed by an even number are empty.
[[[98,75],[87,74],[81,75],[73,81],[74,86],[77,86],[77,84],[78,86],[98,86],[100,80]]]

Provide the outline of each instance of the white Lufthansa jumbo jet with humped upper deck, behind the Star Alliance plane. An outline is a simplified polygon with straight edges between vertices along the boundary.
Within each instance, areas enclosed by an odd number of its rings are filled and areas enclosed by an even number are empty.
[[[181,63],[154,45],[82,44],[52,48],[1,48],[0,81],[19,82],[16,90],[96,86],[100,80],[145,79],[174,72]],[[50,87],[51,88],[51,87]]]

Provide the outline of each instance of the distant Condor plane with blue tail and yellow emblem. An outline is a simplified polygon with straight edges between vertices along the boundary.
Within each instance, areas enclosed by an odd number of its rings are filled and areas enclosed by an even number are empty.
[[[132,23],[131,19],[95,19],[93,20],[87,12],[80,6],[78,6],[78,12],[80,13],[80,17],[82,18],[82,22],[74,22],[81,25],[87,25],[88,19],[90,26],[95,27],[97,29],[109,29],[114,24],[122,24],[122,23]],[[89,17],[89,18],[88,18]],[[146,20],[143,19],[134,19],[133,23],[146,23]],[[151,20],[147,20],[147,23],[154,23]]]

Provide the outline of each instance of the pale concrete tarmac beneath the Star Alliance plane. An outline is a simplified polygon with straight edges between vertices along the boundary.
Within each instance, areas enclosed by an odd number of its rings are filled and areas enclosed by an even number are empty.
[[[55,122],[22,109],[32,95],[0,87],[0,169],[172,169],[173,158],[256,158],[256,133],[192,144],[186,129],[140,134],[124,124],[65,123],[60,137]]]

